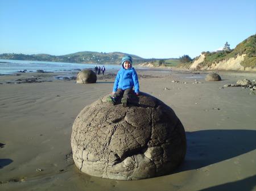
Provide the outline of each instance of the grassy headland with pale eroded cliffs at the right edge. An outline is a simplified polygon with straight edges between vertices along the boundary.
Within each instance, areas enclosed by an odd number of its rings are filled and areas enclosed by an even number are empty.
[[[243,40],[230,51],[202,52],[193,63],[192,70],[249,70],[256,71],[256,35]]]

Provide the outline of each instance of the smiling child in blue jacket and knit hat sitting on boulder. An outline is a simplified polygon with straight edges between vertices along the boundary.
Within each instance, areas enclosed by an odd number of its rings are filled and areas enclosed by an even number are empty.
[[[133,87],[136,95],[139,95],[139,80],[130,56],[122,58],[122,68],[118,71],[115,77],[112,96],[109,96],[108,101],[112,101],[113,105],[122,97],[121,103],[123,107],[127,107],[127,103],[131,103],[133,95]]]

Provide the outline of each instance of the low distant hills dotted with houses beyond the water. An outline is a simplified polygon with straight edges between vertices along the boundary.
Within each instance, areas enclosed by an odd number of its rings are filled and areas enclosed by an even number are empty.
[[[112,53],[99,53],[99,52],[77,52],[66,54],[63,56],[53,56],[50,54],[0,54],[0,59],[7,60],[32,60],[32,61],[49,61],[49,62],[71,62],[71,63],[95,63],[98,65],[105,64],[119,64],[122,57],[130,55],[133,57],[133,63],[150,62],[155,59],[145,59],[133,54],[112,52]]]

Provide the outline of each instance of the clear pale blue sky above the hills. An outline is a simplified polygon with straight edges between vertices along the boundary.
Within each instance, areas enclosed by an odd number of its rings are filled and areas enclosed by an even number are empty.
[[[0,0],[0,53],[193,58],[255,33],[255,0]]]

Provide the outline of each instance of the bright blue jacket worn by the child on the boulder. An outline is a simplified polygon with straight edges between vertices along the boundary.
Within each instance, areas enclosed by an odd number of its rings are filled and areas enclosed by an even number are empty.
[[[133,88],[135,93],[139,93],[139,80],[138,75],[133,67],[129,69],[120,69],[115,77],[115,83],[113,87],[113,92],[116,92],[117,89],[126,90],[128,88]]]

